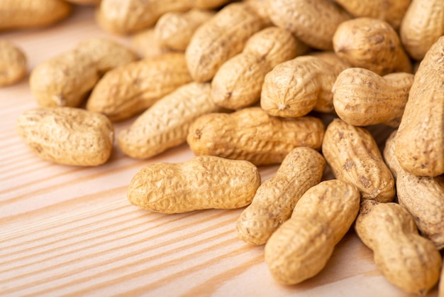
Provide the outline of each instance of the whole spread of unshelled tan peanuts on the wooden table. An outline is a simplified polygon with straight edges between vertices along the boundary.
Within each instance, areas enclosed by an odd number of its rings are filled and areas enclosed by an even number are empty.
[[[131,158],[184,143],[196,156],[142,168],[128,188],[133,205],[245,207],[238,237],[265,244],[281,284],[318,274],[353,226],[394,286],[425,295],[438,284],[443,1],[72,2],[96,5],[99,26],[131,36],[133,48],[93,38],[32,70],[40,107],[17,126],[38,156],[99,166],[115,147],[113,123],[134,119],[116,136]],[[2,1],[0,30],[48,26],[72,5]],[[26,57],[1,41],[0,85],[25,73]],[[383,151],[366,128],[376,124],[394,129]],[[269,164],[279,168],[261,182],[258,166]],[[323,180],[327,166],[335,179]]]

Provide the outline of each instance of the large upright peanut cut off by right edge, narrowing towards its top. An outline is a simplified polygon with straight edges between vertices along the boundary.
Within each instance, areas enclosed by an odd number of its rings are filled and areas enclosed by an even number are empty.
[[[396,134],[396,158],[414,175],[444,173],[444,37],[428,50],[416,71]]]

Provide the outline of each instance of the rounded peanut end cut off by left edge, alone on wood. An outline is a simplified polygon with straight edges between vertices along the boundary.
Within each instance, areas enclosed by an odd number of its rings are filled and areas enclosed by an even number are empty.
[[[0,40],[0,87],[12,85],[26,76],[28,59],[17,45]]]

